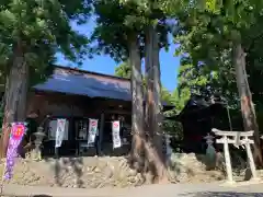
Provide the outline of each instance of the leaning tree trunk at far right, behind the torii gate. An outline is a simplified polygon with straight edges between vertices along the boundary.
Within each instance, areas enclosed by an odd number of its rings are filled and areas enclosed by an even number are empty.
[[[241,44],[237,44],[233,47],[233,61],[236,69],[237,85],[241,102],[241,113],[243,117],[244,130],[254,130],[254,158],[259,165],[263,165],[261,141],[259,126],[256,121],[256,115],[254,104],[252,101],[252,94],[250,91],[247,70],[245,70],[245,53]]]

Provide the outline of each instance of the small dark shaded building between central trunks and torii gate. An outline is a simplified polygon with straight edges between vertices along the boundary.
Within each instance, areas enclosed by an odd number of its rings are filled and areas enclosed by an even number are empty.
[[[173,117],[183,127],[183,152],[205,153],[206,141],[204,139],[213,128],[230,130],[232,126],[228,106],[220,99],[205,99],[201,95],[192,95],[182,112]]]

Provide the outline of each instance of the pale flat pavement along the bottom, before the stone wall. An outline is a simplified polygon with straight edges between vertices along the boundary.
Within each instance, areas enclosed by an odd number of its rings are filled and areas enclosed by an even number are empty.
[[[45,197],[244,197],[262,196],[263,183],[227,186],[222,182],[209,184],[167,184],[146,185],[133,188],[62,188],[4,185],[4,196],[45,196]]]

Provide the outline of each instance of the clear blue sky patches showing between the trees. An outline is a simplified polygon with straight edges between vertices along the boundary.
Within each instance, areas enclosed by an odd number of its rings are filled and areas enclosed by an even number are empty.
[[[71,23],[71,25],[76,31],[89,36],[95,23],[94,20],[90,20],[89,23],[81,26],[76,25],[76,23]],[[169,91],[173,91],[176,86],[176,76],[180,58],[173,56],[174,50],[175,45],[171,45],[168,53],[164,51],[164,49],[160,51],[161,81]],[[61,55],[58,55],[57,63],[61,66],[72,65],[67,61]],[[114,74],[116,66],[117,63],[108,56],[95,56],[92,59],[89,59],[87,57],[80,69],[106,74]]]

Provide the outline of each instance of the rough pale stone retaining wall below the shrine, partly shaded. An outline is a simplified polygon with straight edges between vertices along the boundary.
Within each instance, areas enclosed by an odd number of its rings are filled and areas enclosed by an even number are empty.
[[[225,179],[221,171],[206,171],[204,155],[176,153],[171,157],[173,183],[210,183]],[[0,173],[3,163],[0,165]],[[150,177],[130,169],[124,157],[18,159],[10,184],[78,188],[134,187],[150,184]]]

